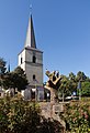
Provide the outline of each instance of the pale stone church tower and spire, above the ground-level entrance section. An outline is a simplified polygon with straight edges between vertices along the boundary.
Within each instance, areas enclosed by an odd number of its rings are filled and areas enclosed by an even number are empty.
[[[24,49],[19,53],[19,66],[25,71],[31,88],[43,86],[43,52],[36,48],[32,14]]]

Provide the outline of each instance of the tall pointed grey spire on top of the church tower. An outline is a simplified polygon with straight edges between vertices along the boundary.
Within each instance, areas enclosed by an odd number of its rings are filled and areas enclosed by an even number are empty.
[[[31,14],[30,20],[29,20],[29,27],[27,27],[27,33],[26,33],[26,40],[25,40],[24,47],[25,48],[30,47],[30,48],[36,49],[32,14]]]

